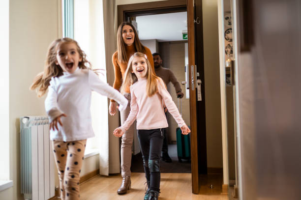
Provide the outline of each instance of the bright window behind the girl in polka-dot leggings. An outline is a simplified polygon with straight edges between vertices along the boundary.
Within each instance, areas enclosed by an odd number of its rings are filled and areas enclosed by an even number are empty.
[[[64,0],[64,36],[74,38],[87,54],[92,68],[106,69],[102,0]],[[107,82],[105,71],[99,78]],[[85,154],[98,149],[101,135],[108,133],[107,97],[92,92],[92,127],[95,137],[87,140]]]

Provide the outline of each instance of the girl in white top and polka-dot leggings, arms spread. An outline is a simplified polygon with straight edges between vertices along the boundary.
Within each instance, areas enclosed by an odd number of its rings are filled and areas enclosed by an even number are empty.
[[[91,90],[115,99],[124,110],[127,100],[113,87],[100,81],[87,68],[90,62],[78,43],[70,38],[51,43],[44,72],[38,74],[30,86],[37,89],[38,97],[45,99],[50,119],[50,140],[59,171],[60,197],[78,200],[79,179],[87,138],[93,137],[91,126]]]

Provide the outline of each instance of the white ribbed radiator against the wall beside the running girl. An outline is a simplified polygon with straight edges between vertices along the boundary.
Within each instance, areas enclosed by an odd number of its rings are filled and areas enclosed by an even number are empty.
[[[55,163],[47,116],[20,117],[21,193],[26,200],[55,196]]]

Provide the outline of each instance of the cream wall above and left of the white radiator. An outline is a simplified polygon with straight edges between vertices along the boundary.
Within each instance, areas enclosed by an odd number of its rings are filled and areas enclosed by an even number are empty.
[[[9,176],[14,186],[0,199],[21,200],[19,117],[45,114],[43,98],[29,86],[43,71],[48,45],[60,37],[60,0],[10,0],[9,6]]]

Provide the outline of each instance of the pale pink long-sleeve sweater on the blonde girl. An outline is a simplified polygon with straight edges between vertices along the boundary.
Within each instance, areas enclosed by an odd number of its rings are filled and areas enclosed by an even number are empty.
[[[131,91],[131,111],[126,121],[121,126],[125,132],[130,125],[137,119],[137,129],[157,129],[166,128],[168,123],[163,109],[163,102],[168,112],[173,115],[180,127],[185,125],[177,106],[172,100],[169,92],[161,78],[157,81],[158,92],[151,97],[146,93],[147,79],[138,79],[136,83],[130,86]]]

